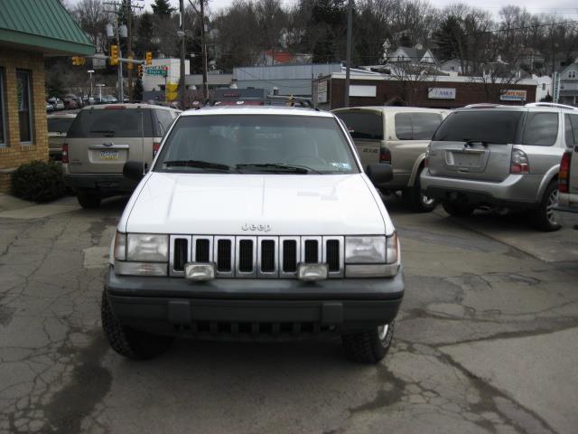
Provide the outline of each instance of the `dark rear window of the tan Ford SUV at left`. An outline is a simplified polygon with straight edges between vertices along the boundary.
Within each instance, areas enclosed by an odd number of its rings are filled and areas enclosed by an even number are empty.
[[[151,109],[81,110],[68,134],[70,138],[141,136],[153,137]]]

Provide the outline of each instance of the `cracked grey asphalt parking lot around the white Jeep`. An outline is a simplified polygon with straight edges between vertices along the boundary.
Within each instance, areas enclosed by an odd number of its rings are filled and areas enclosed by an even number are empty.
[[[0,206],[1,433],[576,432],[578,217],[541,233],[388,200],[406,298],[377,366],[339,340],[178,340],[136,363],[99,324],[125,203]]]

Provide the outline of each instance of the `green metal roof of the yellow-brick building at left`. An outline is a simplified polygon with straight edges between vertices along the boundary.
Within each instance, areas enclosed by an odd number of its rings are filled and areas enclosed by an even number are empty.
[[[0,45],[69,56],[95,52],[59,0],[0,0]]]

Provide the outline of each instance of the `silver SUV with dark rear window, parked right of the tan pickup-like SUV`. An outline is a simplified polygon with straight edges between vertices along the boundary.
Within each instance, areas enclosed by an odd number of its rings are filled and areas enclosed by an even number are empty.
[[[455,110],[428,147],[425,194],[452,215],[480,207],[528,211],[538,229],[560,229],[557,177],[567,115],[576,113],[550,103]]]

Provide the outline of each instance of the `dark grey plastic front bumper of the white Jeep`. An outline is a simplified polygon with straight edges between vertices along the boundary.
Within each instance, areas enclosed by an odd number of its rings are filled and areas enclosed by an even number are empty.
[[[353,330],[391,322],[404,296],[404,276],[340,278],[306,283],[295,279],[228,279],[117,276],[105,286],[119,321],[159,333],[210,325],[315,325]],[[297,327],[298,328],[298,327]]]

